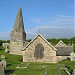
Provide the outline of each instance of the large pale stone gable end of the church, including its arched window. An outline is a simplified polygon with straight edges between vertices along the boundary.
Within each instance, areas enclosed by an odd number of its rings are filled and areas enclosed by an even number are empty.
[[[40,44],[39,44],[40,43]],[[36,46],[39,53],[36,52]],[[24,49],[23,62],[56,63],[56,49],[40,34],[37,35]],[[36,54],[36,56],[35,56]],[[42,55],[41,55],[42,54]]]

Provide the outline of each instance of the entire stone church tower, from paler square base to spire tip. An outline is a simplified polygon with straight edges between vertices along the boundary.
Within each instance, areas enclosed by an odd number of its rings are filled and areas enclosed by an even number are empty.
[[[25,45],[26,33],[22,17],[22,9],[18,11],[15,25],[10,34],[10,54],[22,55],[22,48]]]

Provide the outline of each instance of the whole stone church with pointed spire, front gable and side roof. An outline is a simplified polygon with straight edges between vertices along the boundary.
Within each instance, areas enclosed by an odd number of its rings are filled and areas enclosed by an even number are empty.
[[[22,8],[19,9],[10,33],[10,54],[22,55],[23,62],[57,63],[67,59],[72,51],[72,46],[67,46],[62,40],[53,46],[41,34],[26,42]]]

